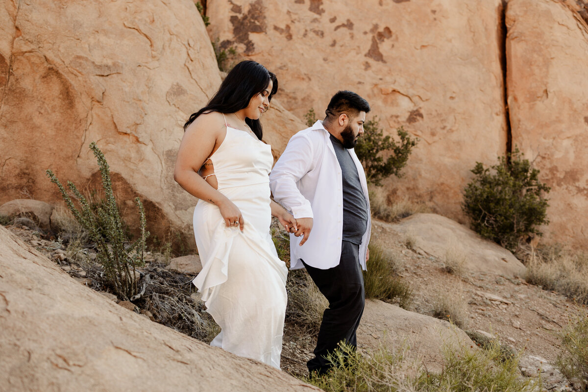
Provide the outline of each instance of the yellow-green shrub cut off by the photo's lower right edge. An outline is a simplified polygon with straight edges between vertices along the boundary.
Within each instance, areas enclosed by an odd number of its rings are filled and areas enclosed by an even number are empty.
[[[581,390],[588,389],[588,313],[577,309],[567,326],[560,332],[563,352],[557,359],[557,366],[564,376],[579,384]]]

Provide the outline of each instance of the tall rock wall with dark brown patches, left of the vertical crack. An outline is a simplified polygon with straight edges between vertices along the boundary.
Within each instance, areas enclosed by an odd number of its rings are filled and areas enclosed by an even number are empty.
[[[387,135],[420,138],[390,192],[463,217],[476,161],[506,151],[502,0],[232,0],[207,2],[213,41],[276,72],[283,106],[322,118],[350,89]]]

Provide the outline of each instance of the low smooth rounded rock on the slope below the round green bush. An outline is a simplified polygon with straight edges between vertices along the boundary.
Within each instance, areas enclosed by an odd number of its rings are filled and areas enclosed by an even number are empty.
[[[443,262],[447,257],[462,259],[466,272],[523,276],[525,267],[508,250],[444,216],[415,214],[399,223],[374,222],[374,232],[392,230],[406,236],[417,252]]]

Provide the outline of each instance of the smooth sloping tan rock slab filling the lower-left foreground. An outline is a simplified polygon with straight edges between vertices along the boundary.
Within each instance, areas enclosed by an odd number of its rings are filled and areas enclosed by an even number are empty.
[[[319,390],[123,309],[4,227],[0,323],[6,392]]]

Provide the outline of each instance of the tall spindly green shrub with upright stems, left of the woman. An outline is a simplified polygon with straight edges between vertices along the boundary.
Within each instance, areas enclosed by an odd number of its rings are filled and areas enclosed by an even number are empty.
[[[118,205],[112,190],[110,169],[102,151],[95,142],[90,144],[102,176],[102,187],[105,192],[103,205],[93,211],[86,197],[79,192],[74,183],[68,181],[69,190],[74,194],[81,209],[78,210],[74,201],[69,196],[65,187],[59,182],[52,170],[47,170],[47,176],[59,187],[62,197],[69,210],[78,220],[80,225],[88,232],[89,238],[95,242],[98,250],[97,261],[104,268],[106,279],[112,284],[116,293],[125,300],[132,299],[138,293],[136,267],[144,263],[145,240],[149,232],[145,231],[145,210],[141,199],[136,197],[135,202],[141,217],[141,236],[134,243],[128,245],[123,221],[119,213]]]

